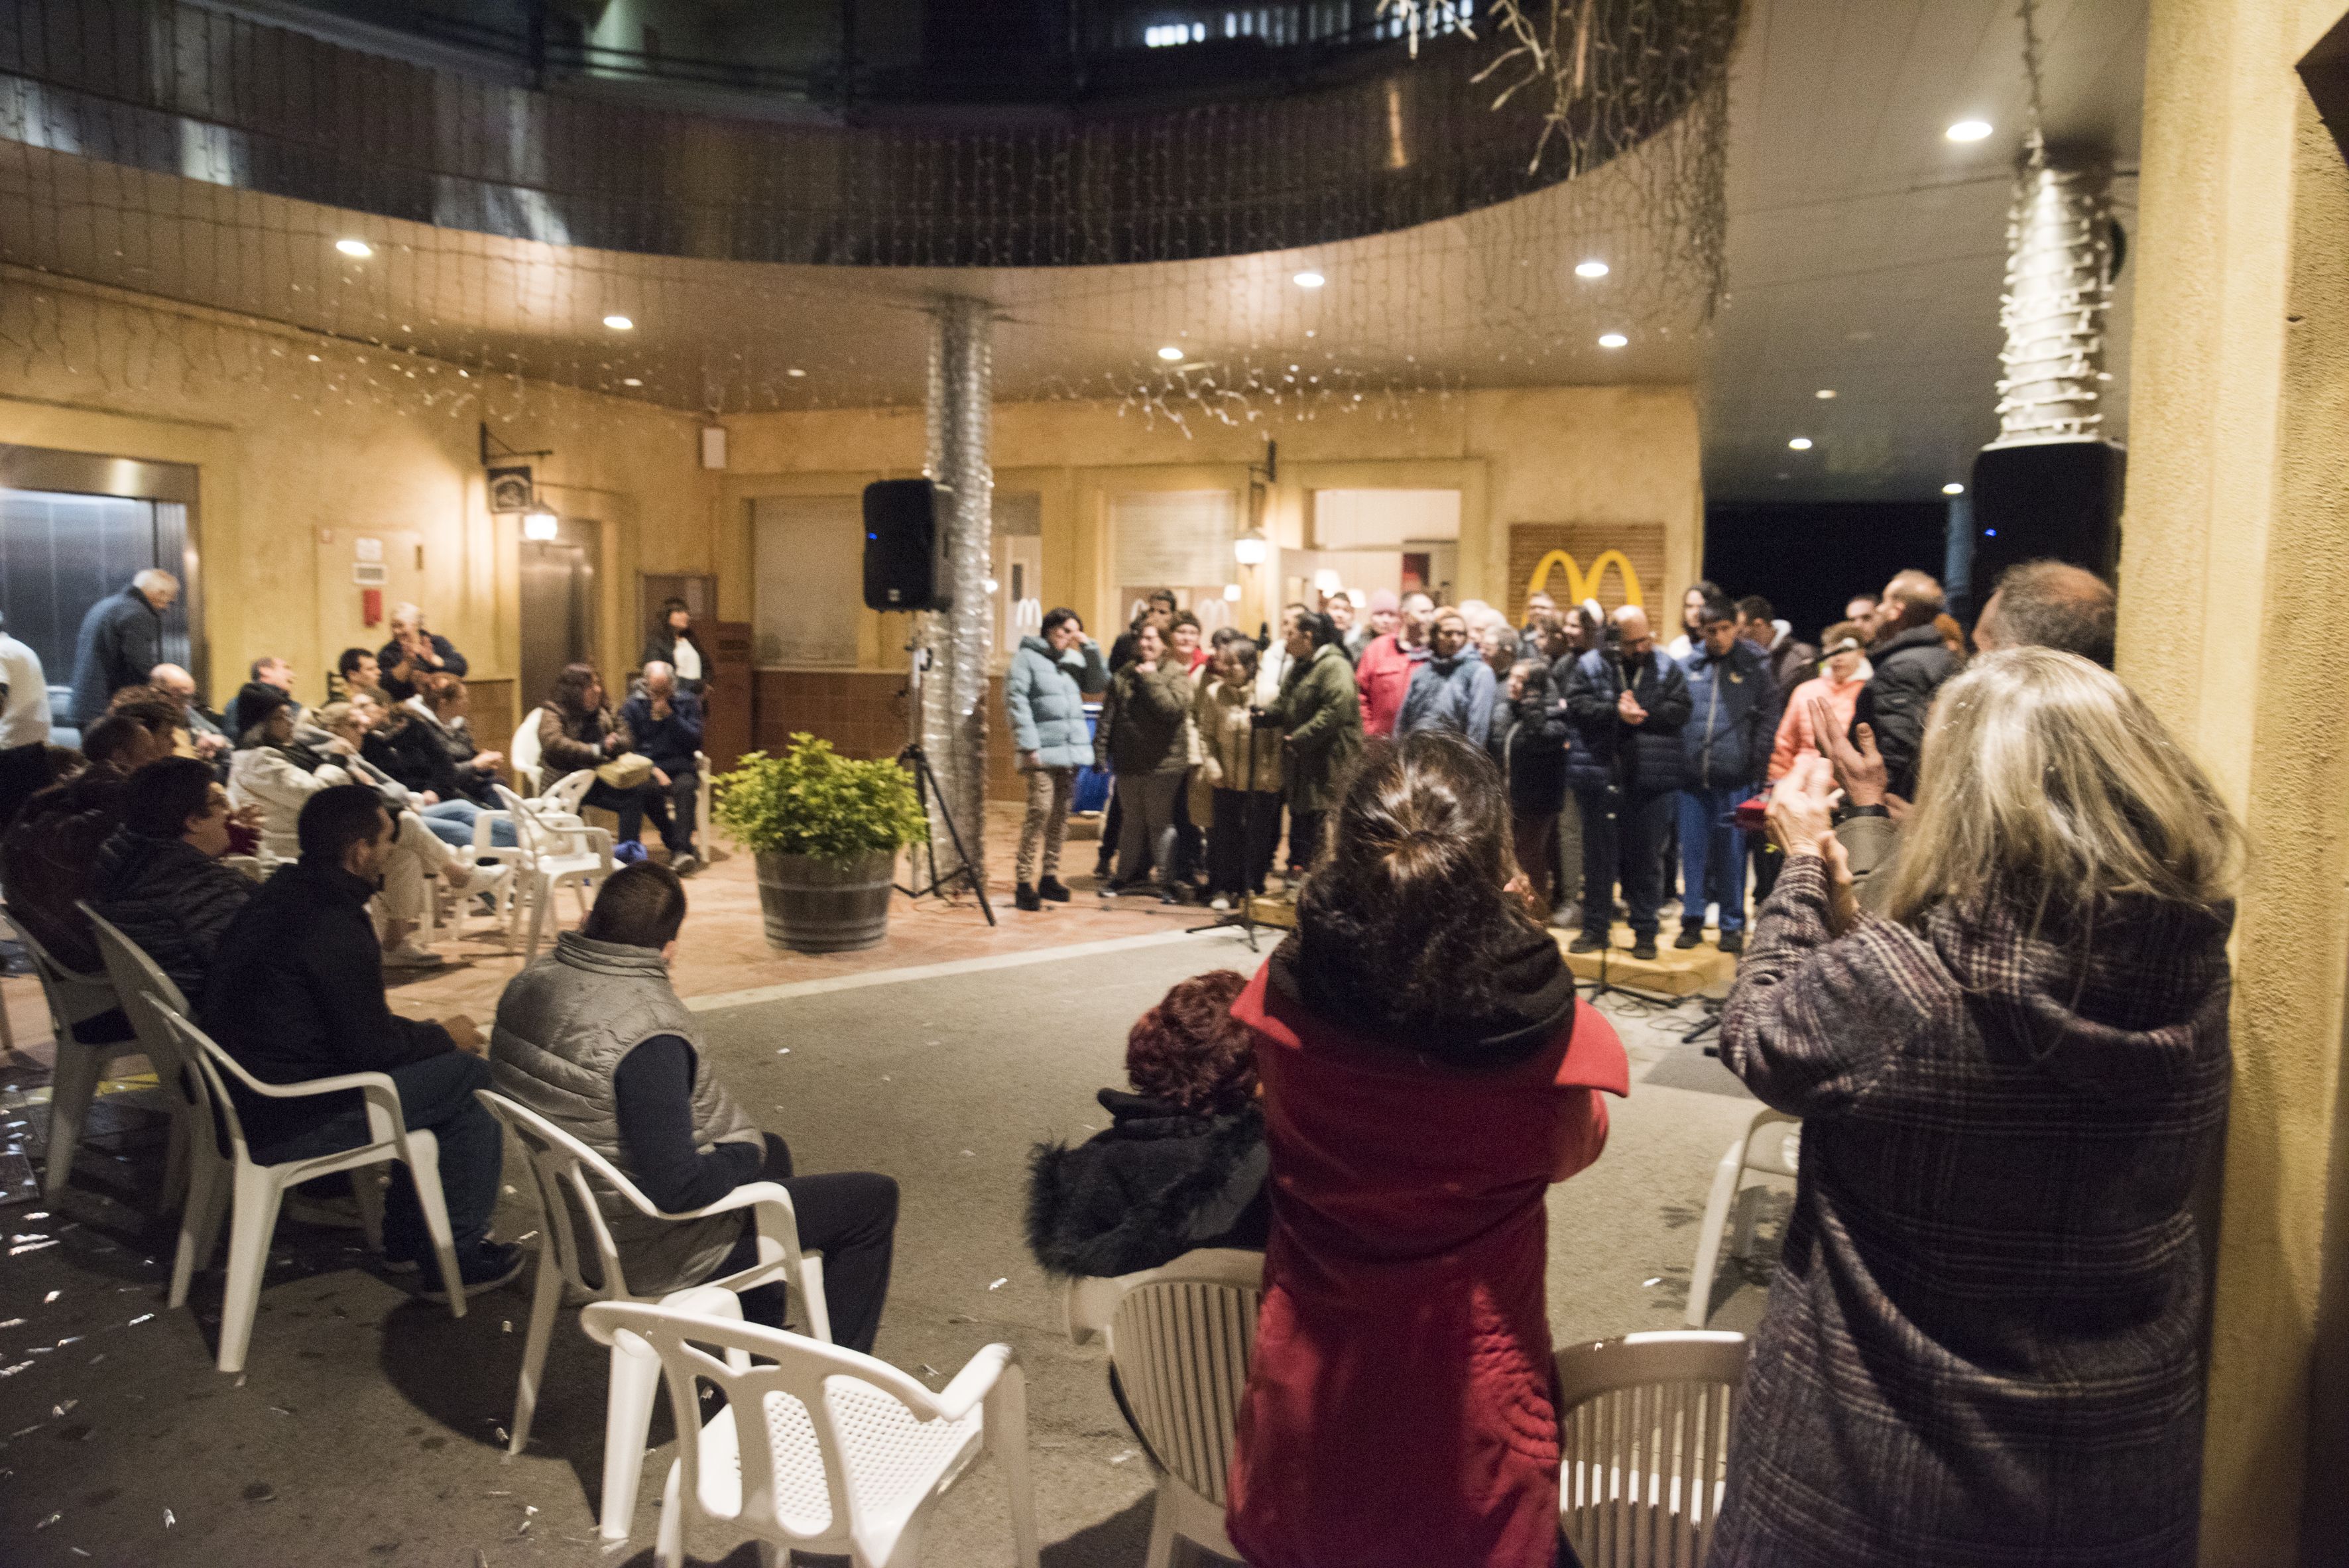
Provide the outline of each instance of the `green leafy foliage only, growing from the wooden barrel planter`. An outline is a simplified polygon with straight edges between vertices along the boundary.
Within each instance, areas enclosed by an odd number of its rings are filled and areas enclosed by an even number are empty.
[[[752,852],[848,861],[930,838],[914,775],[846,758],[813,735],[792,735],[782,756],[752,751],[709,786],[716,819]]]

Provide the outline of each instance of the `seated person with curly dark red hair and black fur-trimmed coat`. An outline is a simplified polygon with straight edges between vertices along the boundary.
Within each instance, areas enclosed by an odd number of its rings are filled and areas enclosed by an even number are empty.
[[[1109,1127],[1029,1160],[1029,1251],[1048,1275],[1132,1275],[1196,1246],[1261,1249],[1264,1113],[1254,1035],[1231,1016],[1236,969],[1179,981],[1125,1038],[1132,1091]]]

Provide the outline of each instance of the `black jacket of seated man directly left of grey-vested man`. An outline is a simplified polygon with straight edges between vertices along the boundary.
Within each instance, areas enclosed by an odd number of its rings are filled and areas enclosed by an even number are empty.
[[[341,866],[301,859],[254,890],[211,955],[204,1030],[247,1073],[298,1084],[385,1073],[453,1052],[439,1023],[383,1000],[383,944],[366,918],[376,890]],[[357,1094],[272,1101],[230,1087],[256,1148],[298,1138],[355,1108]]]

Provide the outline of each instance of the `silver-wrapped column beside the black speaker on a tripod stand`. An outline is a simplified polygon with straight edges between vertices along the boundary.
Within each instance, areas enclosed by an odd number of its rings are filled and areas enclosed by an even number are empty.
[[[937,772],[930,803],[930,843],[937,876],[961,861],[940,807],[954,812],[970,854],[970,871],[987,876],[987,671],[996,646],[996,601],[987,592],[994,554],[996,474],[989,465],[994,427],[994,317],[987,300],[944,298],[930,317],[930,479],[949,491],[947,575],[954,608],[923,615],[930,669],[921,685],[921,744]]]

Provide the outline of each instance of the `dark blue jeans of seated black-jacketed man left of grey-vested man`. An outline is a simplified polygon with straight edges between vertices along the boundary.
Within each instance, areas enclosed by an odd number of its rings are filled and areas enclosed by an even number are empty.
[[[399,1089],[399,1110],[406,1115],[409,1131],[430,1131],[439,1138],[449,1232],[463,1253],[489,1235],[489,1216],[498,1207],[498,1174],[505,1164],[505,1134],[498,1129],[498,1117],[472,1099],[474,1089],[489,1087],[489,1061],[470,1052],[444,1052],[392,1068],[390,1080]],[[350,1108],[284,1143],[256,1148],[254,1157],[265,1164],[284,1164],[362,1143],[366,1143],[366,1103],[352,1094]],[[432,1237],[425,1235],[425,1216],[416,1207],[416,1183],[409,1178],[409,1167],[399,1162],[392,1164],[392,1195],[383,1204],[383,1256],[416,1263],[432,1258]]]

